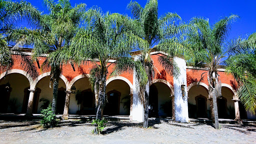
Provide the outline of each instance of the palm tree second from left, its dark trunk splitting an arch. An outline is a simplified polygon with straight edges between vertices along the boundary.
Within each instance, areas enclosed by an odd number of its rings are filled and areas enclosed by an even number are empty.
[[[49,10],[49,14],[38,14],[33,17],[31,23],[35,24],[35,29],[21,27],[13,29],[8,38],[15,42],[13,47],[22,45],[33,45],[34,60],[37,57],[54,50],[67,48],[70,40],[75,36],[85,4],[78,4],[72,7],[69,0],[43,0]],[[43,62],[41,69],[50,69],[50,83],[53,81],[52,111],[56,111],[58,80],[61,73],[62,64],[51,59]],[[50,84],[51,85],[51,84]]]

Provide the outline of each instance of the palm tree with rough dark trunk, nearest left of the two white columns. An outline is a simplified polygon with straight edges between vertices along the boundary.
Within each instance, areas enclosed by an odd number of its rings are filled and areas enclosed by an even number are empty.
[[[96,119],[102,119],[106,102],[106,78],[109,59],[126,57],[131,51],[134,36],[132,36],[132,20],[119,13],[102,13],[100,8],[93,7],[84,13],[84,27],[80,28],[71,40],[69,48],[55,51],[50,59],[61,62],[80,64],[92,63],[89,81],[95,94]],[[96,132],[96,131],[95,131]]]

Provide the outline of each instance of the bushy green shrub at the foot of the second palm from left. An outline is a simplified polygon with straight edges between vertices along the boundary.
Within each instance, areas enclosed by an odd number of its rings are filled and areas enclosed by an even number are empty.
[[[46,109],[42,109],[41,114],[41,125],[43,127],[55,127],[57,125],[56,115],[53,114],[50,104]]]

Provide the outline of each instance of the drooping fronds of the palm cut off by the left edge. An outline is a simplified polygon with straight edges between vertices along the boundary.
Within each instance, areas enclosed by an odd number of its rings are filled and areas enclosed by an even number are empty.
[[[5,74],[8,74],[14,61],[17,60],[21,61],[22,68],[32,79],[37,77],[38,72],[31,58],[23,53],[20,47],[13,47],[12,43],[8,43],[6,39],[17,21],[31,20],[36,14],[38,14],[36,8],[28,2],[0,0],[0,72],[5,71]]]

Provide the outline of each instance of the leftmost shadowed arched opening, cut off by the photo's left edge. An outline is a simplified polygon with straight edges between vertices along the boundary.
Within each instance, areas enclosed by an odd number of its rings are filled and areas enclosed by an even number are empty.
[[[9,90],[6,89],[6,84],[9,84]],[[24,98],[24,89],[29,87],[27,77],[20,73],[10,73],[5,78],[0,79],[0,97],[1,112],[6,113],[21,113]]]

